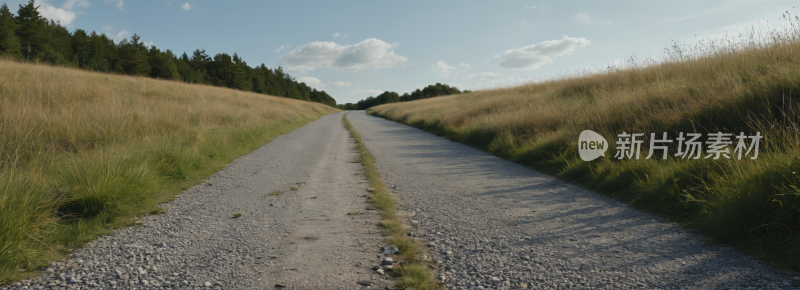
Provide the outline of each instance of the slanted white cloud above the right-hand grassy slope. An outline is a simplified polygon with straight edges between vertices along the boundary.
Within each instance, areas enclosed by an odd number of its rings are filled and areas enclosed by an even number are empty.
[[[547,40],[537,44],[509,49],[495,55],[495,64],[499,67],[535,70],[551,63],[562,55],[570,55],[578,47],[585,47],[591,41],[586,38],[574,38],[564,35],[560,40]]]

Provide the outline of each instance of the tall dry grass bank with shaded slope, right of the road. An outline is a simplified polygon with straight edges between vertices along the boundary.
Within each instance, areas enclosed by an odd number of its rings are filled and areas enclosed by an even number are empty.
[[[616,196],[800,270],[798,24],[676,43],[664,59],[640,65],[387,104],[371,113]],[[583,130],[611,143],[605,158],[579,159]],[[674,141],[668,160],[660,151],[645,159],[650,133],[675,140],[678,132],[698,132],[706,141],[718,131],[761,132],[758,158],[704,159],[704,143],[699,160],[682,159],[674,157]],[[645,133],[640,160],[613,158],[622,132]]]

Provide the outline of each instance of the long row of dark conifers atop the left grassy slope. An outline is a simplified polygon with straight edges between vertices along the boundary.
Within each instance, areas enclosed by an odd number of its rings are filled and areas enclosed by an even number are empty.
[[[46,19],[39,6],[29,0],[19,5],[15,16],[5,3],[0,7],[0,56],[27,62],[87,70],[179,80],[261,94],[299,99],[336,106],[336,100],[296,81],[283,68],[250,67],[236,53],[218,53],[213,57],[196,49],[191,57],[185,52],[147,47],[139,35],[119,43],[105,34],[76,29],[67,30],[59,22]]]

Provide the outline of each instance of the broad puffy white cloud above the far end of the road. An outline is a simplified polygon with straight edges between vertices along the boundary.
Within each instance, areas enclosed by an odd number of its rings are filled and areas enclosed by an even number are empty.
[[[315,41],[301,45],[281,56],[281,63],[286,65],[287,69],[300,73],[318,68],[344,72],[390,68],[408,60],[391,50],[397,45],[375,38],[352,45]]]

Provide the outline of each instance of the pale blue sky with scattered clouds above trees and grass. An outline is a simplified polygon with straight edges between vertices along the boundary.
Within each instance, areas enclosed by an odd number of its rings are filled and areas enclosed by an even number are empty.
[[[6,1],[16,14],[22,0]],[[736,35],[796,1],[37,0],[68,29],[133,33],[176,54],[281,66],[337,103],[430,84],[479,90],[657,58],[675,40]],[[760,22],[759,22],[760,21]]]

